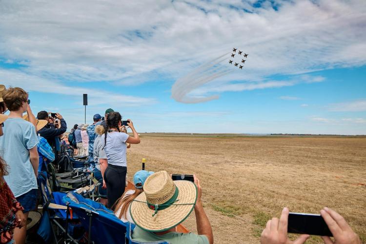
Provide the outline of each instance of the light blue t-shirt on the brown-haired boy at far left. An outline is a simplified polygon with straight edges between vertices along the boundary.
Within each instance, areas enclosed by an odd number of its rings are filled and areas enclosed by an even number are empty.
[[[0,137],[0,155],[8,164],[4,180],[15,197],[38,189],[36,175],[29,158],[29,149],[37,146],[36,128],[21,118],[8,118]]]

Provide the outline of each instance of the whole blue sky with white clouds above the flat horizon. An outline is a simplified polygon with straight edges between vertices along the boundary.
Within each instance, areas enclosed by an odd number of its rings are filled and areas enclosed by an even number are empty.
[[[86,93],[138,132],[365,135],[365,28],[365,0],[0,0],[0,83],[68,131]]]

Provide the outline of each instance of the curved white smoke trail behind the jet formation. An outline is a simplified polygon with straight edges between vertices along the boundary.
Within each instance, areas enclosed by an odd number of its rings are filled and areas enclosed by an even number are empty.
[[[232,72],[232,69],[227,69],[221,65],[221,62],[227,60],[227,57],[223,57],[229,53],[225,53],[216,59],[203,63],[184,77],[175,81],[172,86],[172,98],[177,102],[183,103],[207,102],[218,99],[218,95],[209,97],[192,97],[189,96],[189,93],[203,84]]]

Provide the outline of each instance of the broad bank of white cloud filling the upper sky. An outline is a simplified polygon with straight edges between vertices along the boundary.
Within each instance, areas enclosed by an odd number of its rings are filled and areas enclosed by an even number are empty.
[[[243,49],[245,71],[221,78],[219,93],[297,84],[265,79],[275,74],[366,63],[366,1],[277,0],[278,11],[269,1],[252,3],[1,1],[0,57],[55,83],[131,85],[175,80],[233,46]]]

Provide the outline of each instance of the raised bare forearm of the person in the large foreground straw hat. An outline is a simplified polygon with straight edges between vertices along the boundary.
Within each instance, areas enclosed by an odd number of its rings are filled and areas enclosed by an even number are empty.
[[[197,202],[194,206],[194,212],[196,214],[197,232],[199,235],[205,235],[210,244],[213,244],[213,233],[210,221],[204,212],[203,205],[201,202],[202,189],[200,180],[194,176],[194,183],[197,185]]]

